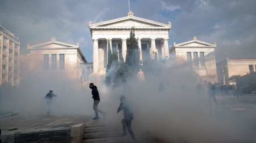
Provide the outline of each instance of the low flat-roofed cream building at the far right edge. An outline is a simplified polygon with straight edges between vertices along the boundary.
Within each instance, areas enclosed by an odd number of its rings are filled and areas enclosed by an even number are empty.
[[[256,58],[226,58],[216,64],[218,82],[233,85],[229,78],[233,75],[246,75],[256,71]]]

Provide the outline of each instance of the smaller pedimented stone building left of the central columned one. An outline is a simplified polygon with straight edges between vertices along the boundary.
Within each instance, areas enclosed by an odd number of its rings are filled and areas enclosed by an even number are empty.
[[[86,57],[77,45],[55,41],[27,46],[30,77],[82,83],[88,78]],[[24,59],[27,57],[24,56]],[[24,60],[26,61],[26,60]],[[24,62],[26,63],[26,62]]]

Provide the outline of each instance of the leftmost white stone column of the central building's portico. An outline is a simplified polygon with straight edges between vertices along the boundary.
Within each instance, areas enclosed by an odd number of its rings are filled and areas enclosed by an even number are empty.
[[[98,39],[93,39],[93,73],[97,74],[99,71],[99,47]]]

